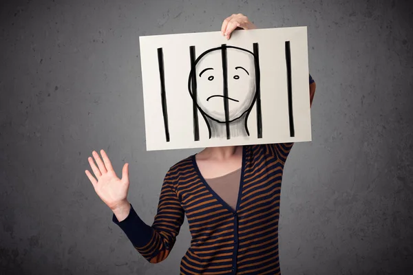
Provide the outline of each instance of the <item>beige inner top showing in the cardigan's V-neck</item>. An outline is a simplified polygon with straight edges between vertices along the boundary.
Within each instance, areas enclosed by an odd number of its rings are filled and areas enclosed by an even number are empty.
[[[205,181],[235,211],[240,190],[241,168],[221,177],[205,179]]]

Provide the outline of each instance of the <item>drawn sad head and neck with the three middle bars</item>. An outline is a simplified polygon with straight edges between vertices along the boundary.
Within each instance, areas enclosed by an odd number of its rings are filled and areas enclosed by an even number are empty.
[[[193,99],[194,136],[199,140],[198,111],[209,129],[209,137],[230,139],[248,136],[247,120],[257,104],[257,129],[261,131],[260,67],[258,45],[253,51],[221,45],[195,59],[190,47],[191,72],[188,89]]]

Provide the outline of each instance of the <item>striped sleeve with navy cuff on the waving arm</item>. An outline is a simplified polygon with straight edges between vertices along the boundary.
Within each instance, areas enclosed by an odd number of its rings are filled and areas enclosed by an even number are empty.
[[[113,214],[112,221],[125,232],[134,248],[149,263],[160,263],[167,259],[184,222],[184,210],[171,175],[167,173],[165,176],[158,211],[151,226],[140,219],[132,205],[126,219],[119,222]]]

